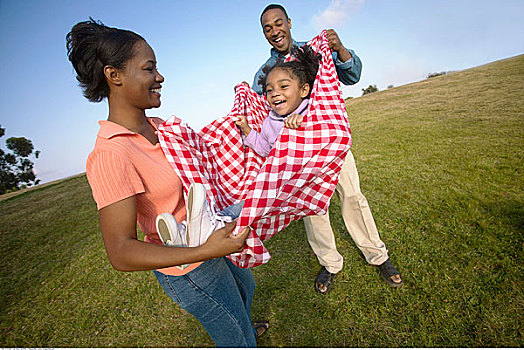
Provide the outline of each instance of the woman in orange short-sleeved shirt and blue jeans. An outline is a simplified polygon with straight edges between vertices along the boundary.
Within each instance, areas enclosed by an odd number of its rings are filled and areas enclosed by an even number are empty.
[[[160,106],[164,82],[153,50],[138,34],[93,19],[71,29],[67,49],[84,96],[108,100],[109,116],[99,122],[86,173],[111,265],[154,270],[166,294],[202,323],[217,346],[256,346],[257,332],[268,324],[251,324],[253,275],[224,258],[242,250],[249,230],[234,236],[235,224],[229,224],[192,248],[163,246],[156,232],[158,214],[172,213],[180,222],[186,209],[182,183],[158,143],[162,121],[145,114]],[[137,221],[144,242],[137,239]]]

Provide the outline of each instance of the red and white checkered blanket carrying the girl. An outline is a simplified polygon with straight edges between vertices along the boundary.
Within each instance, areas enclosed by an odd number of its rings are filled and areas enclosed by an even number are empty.
[[[231,112],[200,132],[177,117],[159,127],[168,161],[180,176],[185,196],[191,183],[203,183],[221,210],[245,200],[234,233],[251,226],[244,250],[228,256],[241,268],[266,263],[262,241],[293,220],[324,214],[351,145],[351,134],[326,33],[309,42],[322,54],[308,111],[298,129],[284,128],[267,158],[243,145],[235,116],[245,115],[260,131],[270,111],[265,97],[245,85],[236,90]]]

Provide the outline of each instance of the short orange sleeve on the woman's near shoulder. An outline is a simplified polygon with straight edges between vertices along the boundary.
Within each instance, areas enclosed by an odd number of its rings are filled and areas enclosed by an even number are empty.
[[[113,151],[94,151],[87,158],[86,174],[98,209],[145,192],[131,161]]]

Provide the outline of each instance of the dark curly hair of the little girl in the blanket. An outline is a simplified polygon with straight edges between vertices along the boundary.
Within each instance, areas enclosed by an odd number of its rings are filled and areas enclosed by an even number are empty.
[[[266,81],[269,73],[275,68],[282,68],[288,70],[291,75],[297,78],[300,86],[308,83],[310,89],[307,97],[311,95],[322,55],[315,53],[315,51],[306,44],[300,48],[293,46],[291,48],[291,56],[296,60],[284,62],[284,58],[280,57],[273,66],[265,66],[262,68],[264,75],[260,76],[258,83],[262,85],[264,94],[266,93]]]

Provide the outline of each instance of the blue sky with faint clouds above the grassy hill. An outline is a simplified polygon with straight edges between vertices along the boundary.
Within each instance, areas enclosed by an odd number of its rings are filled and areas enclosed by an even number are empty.
[[[0,0],[0,125],[41,151],[41,183],[85,171],[107,102],[82,95],[65,36],[89,17],[130,29],[154,49],[165,77],[162,106],[199,130],[226,115],[233,87],[251,83],[269,56],[260,13],[271,1]],[[282,0],[291,34],[307,41],[334,29],[362,60],[343,97],[423,80],[524,53],[524,0]],[[351,114],[350,114],[351,123]]]

